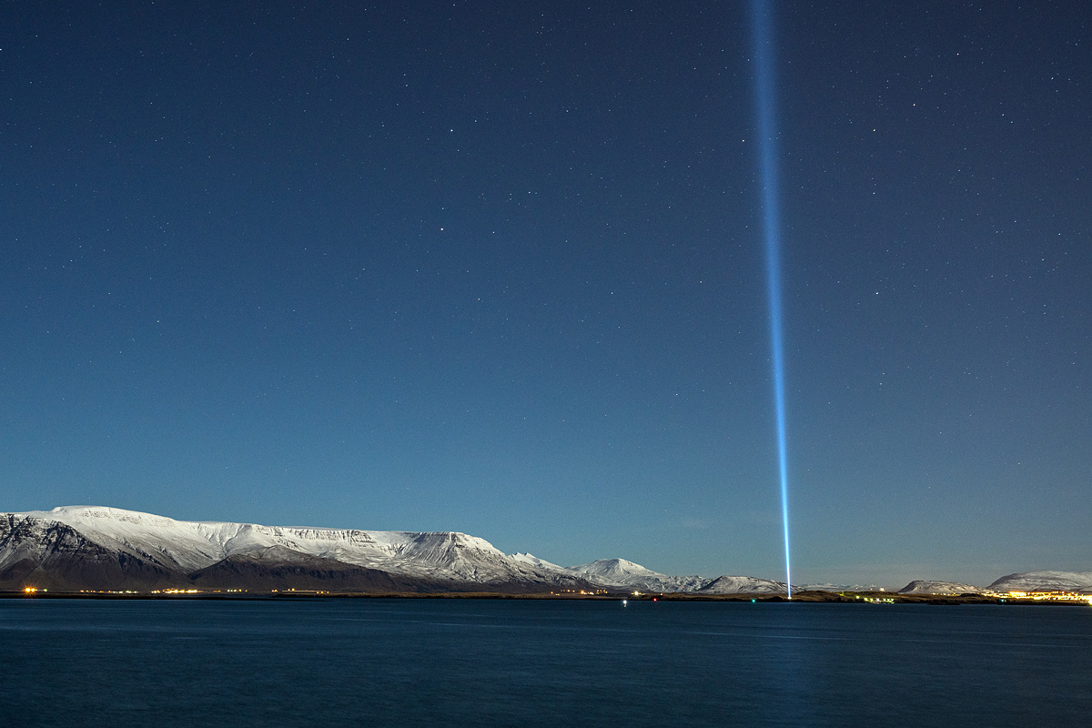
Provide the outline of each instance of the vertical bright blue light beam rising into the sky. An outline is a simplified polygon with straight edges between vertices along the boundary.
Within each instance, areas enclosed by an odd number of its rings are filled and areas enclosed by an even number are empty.
[[[785,533],[785,584],[793,598],[788,558],[788,466],[785,454],[785,369],[781,333],[781,210],[778,204],[778,130],[773,95],[773,11],[770,0],[752,0],[755,98],[759,134],[759,180],[762,186],[762,232],[765,239],[767,287],[770,296],[770,346],[773,354],[773,401],[778,415],[778,470],[781,476],[781,522]]]

